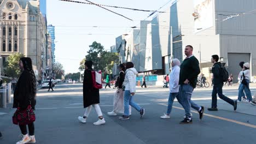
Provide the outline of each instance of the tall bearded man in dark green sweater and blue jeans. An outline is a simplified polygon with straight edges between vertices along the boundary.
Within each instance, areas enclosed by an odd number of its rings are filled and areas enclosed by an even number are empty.
[[[199,118],[203,116],[203,106],[199,106],[191,100],[192,93],[196,87],[197,76],[200,74],[199,62],[193,56],[193,46],[187,45],[185,47],[185,55],[187,56],[182,65],[179,73],[179,97],[183,99],[183,108],[186,117],[180,124],[192,123],[190,107],[199,112]]]

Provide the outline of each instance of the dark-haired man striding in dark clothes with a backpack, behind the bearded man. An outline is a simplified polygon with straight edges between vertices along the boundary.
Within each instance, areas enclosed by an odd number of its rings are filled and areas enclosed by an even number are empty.
[[[218,55],[212,56],[212,73],[213,73],[213,90],[212,90],[212,107],[208,108],[209,111],[218,111],[217,109],[217,93],[219,98],[226,101],[230,105],[234,106],[234,111],[237,108],[237,101],[232,100],[222,93],[223,82],[226,77],[225,68],[222,67],[222,64],[219,61]]]

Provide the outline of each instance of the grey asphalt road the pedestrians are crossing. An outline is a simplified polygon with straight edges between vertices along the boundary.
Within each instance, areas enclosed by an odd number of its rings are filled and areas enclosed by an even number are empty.
[[[253,87],[254,88],[254,87]],[[226,96],[236,99],[236,87],[226,87]],[[223,100],[218,100],[219,111],[207,111],[200,121],[193,111],[193,124],[179,124],[183,120],[182,106],[174,103],[170,119],[160,119],[166,113],[168,89],[160,87],[138,88],[135,101],[146,109],[143,118],[132,109],[129,121],[109,117],[113,109],[114,89],[101,90],[101,109],[106,124],[93,125],[97,121],[95,110],[87,123],[79,123],[83,116],[82,84],[56,85],[54,92],[40,89],[36,106],[37,143],[256,143],[256,106],[238,103],[237,111]],[[254,93],[256,89],[252,89]],[[211,89],[195,89],[193,100],[211,106]],[[19,127],[12,124],[14,109],[0,109],[0,143],[15,143],[19,140]],[[5,114],[1,112],[4,112]]]

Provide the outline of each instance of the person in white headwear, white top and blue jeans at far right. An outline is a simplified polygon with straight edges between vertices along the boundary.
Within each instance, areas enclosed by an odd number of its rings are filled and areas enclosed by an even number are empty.
[[[242,80],[245,79],[246,83],[241,82],[239,89],[238,89],[238,101],[241,101],[242,95],[243,95],[243,90],[245,90],[247,101],[249,103],[252,103],[252,94],[251,90],[249,88],[249,83],[251,79],[251,71],[250,71],[250,64],[245,63],[243,64],[243,69],[240,72],[239,76],[242,78]]]

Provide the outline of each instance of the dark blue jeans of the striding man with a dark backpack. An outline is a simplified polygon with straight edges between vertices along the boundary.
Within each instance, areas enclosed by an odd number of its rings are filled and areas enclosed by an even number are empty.
[[[225,95],[223,95],[222,87],[223,87],[223,85],[214,85],[213,86],[213,90],[212,90],[212,108],[217,107],[217,93],[218,93],[220,99],[226,101],[230,105],[234,105],[234,100],[232,100],[232,99],[226,97]]]

